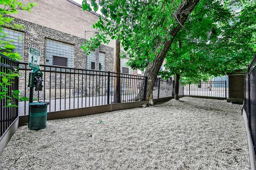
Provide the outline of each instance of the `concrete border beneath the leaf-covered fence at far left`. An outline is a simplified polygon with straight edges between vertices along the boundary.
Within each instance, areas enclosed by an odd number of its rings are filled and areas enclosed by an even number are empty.
[[[11,140],[12,135],[17,131],[19,125],[19,117],[17,117],[9,128],[6,129],[2,137],[0,138],[0,155],[3,153],[7,143]]]

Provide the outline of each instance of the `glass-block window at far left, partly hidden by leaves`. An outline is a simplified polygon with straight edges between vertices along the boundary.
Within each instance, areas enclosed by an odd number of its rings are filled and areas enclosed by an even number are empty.
[[[23,56],[23,33],[9,29],[3,29],[3,33],[0,34],[1,40],[10,41],[10,43],[15,46],[13,52],[17,52],[20,54],[20,56]]]

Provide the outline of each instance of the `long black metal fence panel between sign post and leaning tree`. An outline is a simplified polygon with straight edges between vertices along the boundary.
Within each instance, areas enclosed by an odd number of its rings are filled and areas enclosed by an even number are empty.
[[[145,99],[146,77],[49,65],[40,65],[40,70],[43,90],[34,93],[34,101],[49,101],[47,112]],[[25,97],[29,95],[29,71],[27,63],[20,63],[19,89]],[[120,90],[115,90],[116,83]],[[28,101],[20,102],[19,115],[27,114]]]

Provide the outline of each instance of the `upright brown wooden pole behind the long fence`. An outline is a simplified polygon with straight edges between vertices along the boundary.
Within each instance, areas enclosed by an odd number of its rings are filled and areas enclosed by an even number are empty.
[[[114,103],[120,103],[121,102],[121,83],[120,83],[120,42],[119,39],[116,39],[116,46],[114,49],[114,70],[117,73],[117,77],[115,78],[115,84],[114,84]]]

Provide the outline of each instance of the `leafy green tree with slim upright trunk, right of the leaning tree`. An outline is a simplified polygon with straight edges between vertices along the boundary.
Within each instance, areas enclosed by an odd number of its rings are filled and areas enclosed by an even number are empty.
[[[234,5],[242,8],[241,13],[230,8]],[[209,80],[211,76],[245,68],[255,53],[255,29],[252,29],[255,28],[255,2],[199,3],[195,12],[178,33],[166,57],[168,71],[160,73],[165,78],[175,75],[178,78],[175,85],[179,78],[183,82]],[[175,86],[175,99],[178,99],[178,88]]]

